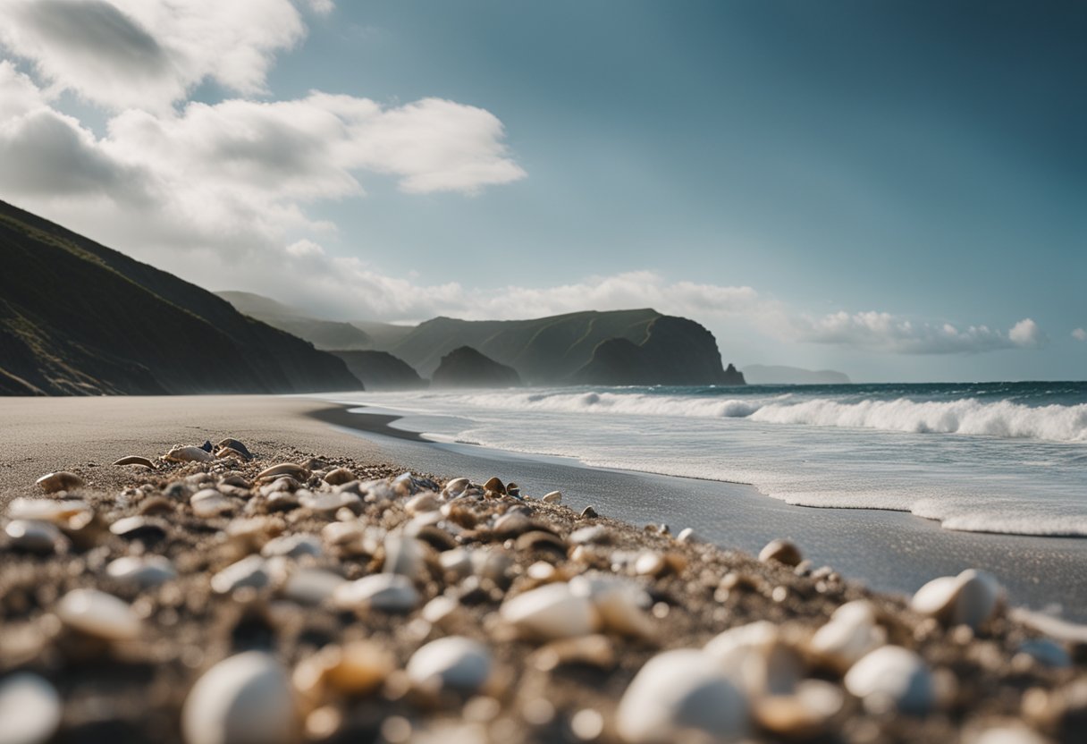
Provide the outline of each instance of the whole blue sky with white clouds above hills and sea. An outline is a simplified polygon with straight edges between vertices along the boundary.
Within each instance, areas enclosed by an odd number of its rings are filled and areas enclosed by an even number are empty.
[[[1042,12],[1044,10],[1044,12]],[[1087,4],[0,0],[0,199],[337,320],[1087,377]]]

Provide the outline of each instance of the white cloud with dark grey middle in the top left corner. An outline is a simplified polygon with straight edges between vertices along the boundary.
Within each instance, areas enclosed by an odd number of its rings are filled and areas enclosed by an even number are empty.
[[[275,53],[304,35],[290,0],[0,2],[0,45],[32,61],[51,90],[115,110],[162,111],[204,79],[264,92]]]

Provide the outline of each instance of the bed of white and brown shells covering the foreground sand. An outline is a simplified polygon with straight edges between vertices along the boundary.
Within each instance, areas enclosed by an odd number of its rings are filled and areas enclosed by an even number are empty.
[[[755,559],[497,476],[283,454],[118,454],[9,504],[0,744],[1087,730],[1084,647],[984,572],[907,603],[785,540]]]

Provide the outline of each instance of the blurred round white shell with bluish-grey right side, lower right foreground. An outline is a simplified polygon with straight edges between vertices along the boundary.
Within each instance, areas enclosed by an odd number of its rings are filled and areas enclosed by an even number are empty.
[[[846,690],[873,712],[898,709],[923,715],[935,700],[933,675],[924,660],[901,646],[882,646],[846,673]]]

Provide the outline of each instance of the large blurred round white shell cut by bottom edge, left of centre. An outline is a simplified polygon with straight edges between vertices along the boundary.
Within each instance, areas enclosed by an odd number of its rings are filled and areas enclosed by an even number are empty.
[[[287,671],[271,654],[245,652],[197,680],[182,708],[187,744],[290,744],[300,721]]]

